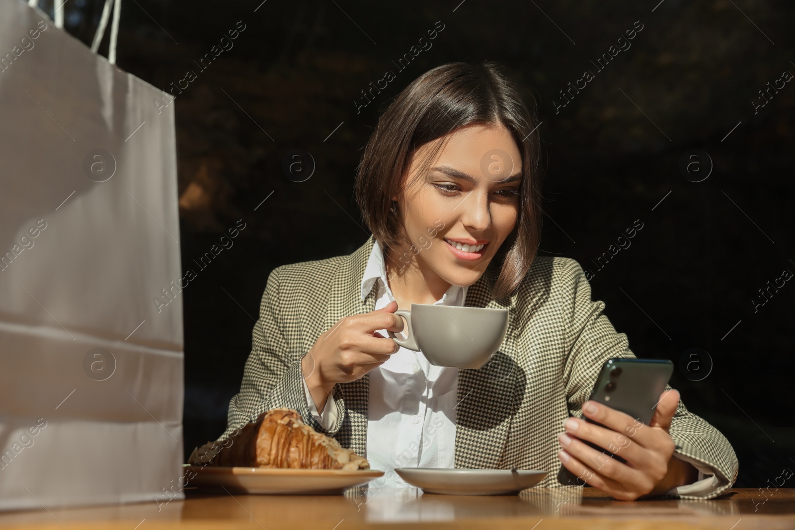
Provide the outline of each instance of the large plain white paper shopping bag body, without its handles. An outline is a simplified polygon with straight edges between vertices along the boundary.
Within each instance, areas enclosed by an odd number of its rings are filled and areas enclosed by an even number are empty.
[[[174,106],[153,99],[0,2],[0,509],[182,497]]]

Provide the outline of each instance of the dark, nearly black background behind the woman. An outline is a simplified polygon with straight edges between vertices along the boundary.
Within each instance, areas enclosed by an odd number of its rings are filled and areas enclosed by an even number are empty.
[[[261,2],[122,6],[119,68],[162,89],[188,70],[197,77],[174,103],[184,268],[246,222],[182,293],[186,455],[224,430],[270,270],[366,239],[352,184],[378,110],[439,64],[498,60],[538,104],[541,253],[591,270],[594,299],[638,357],[677,363],[673,387],[735,448],[736,486],[766,486],[795,467],[795,281],[752,303],[768,280],[795,272],[795,79],[757,114],[751,103],[795,72],[793,2]],[[68,31],[90,44],[102,3],[70,0]],[[238,21],[234,48],[198,68]],[[436,21],[444,30],[432,48],[398,72],[392,61]],[[631,48],[598,71],[591,60],[635,21]],[[397,78],[357,114],[360,91],[386,70]],[[595,79],[556,113],[553,99],[584,70]],[[312,154],[310,179],[285,177],[290,149]],[[712,172],[703,155],[680,171],[691,149],[708,153]],[[631,246],[594,265],[636,219]],[[691,348],[714,365],[700,381],[710,363]],[[696,361],[689,372],[683,356]]]

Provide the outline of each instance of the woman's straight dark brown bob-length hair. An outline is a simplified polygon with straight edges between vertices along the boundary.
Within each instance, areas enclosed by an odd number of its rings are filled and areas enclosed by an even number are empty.
[[[510,296],[533,263],[541,239],[541,145],[534,109],[528,110],[498,64],[442,64],[405,87],[378,118],[367,142],[356,172],[355,199],[379,244],[385,249],[400,245],[405,241],[405,227],[391,198],[404,184],[413,153],[472,124],[505,126],[522,153],[518,221],[487,269],[494,298]],[[446,141],[432,149],[425,164],[430,164]],[[417,177],[426,170],[427,165]]]

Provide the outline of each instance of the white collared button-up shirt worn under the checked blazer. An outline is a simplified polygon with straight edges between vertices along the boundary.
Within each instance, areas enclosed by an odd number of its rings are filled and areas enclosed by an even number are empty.
[[[381,309],[394,296],[377,241],[362,277],[362,300],[375,282],[378,282],[375,309]],[[451,285],[434,304],[463,306],[466,298],[467,286]],[[389,337],[386,329],[378,333]],[[366,456],[371,469],[385,472],[382,478],[372,482],[377,482],[377,486],[413,487],[394,469],[455,467],[457,391],[457,368],[433,366],[421,352],[402,346],[389,360],[370,371]],[[312,416],[323,427],[332,428],[337,421],[334,398],[328,397],[321,416],[306,381],[304,393]]]

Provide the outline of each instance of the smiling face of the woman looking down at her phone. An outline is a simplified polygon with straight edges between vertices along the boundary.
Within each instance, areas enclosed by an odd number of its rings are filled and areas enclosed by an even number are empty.
[[[522,156],[502,125],[466,126],[448,137],[425,175],[417,172],[431,145],[417,149],[407,182],[418,180],[392,199],[414,247],[405,258],[448,284],[471,285],[516,225]]]

